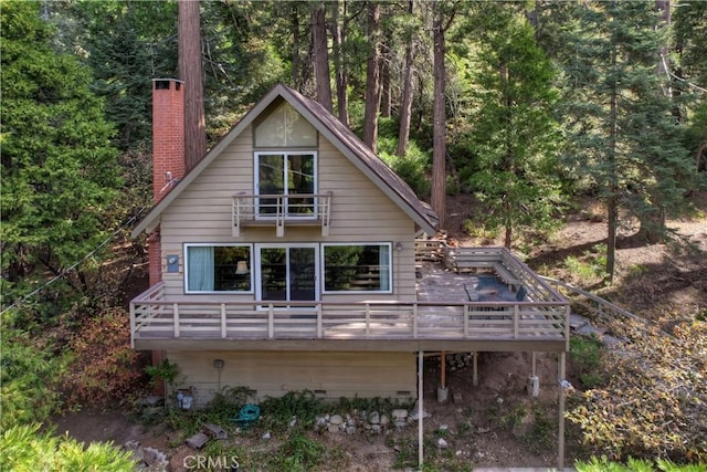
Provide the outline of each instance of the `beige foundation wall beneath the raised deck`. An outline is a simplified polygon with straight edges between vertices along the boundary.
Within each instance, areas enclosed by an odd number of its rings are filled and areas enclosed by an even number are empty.
[[[249,387],[257,399],[310,390],[338,399],[416,397],[416,358],[412,353],[167,352],[179,365],[179,388],[193,388],[203,406],[224,387]],[[214,359],[224,360],[219,381]]]

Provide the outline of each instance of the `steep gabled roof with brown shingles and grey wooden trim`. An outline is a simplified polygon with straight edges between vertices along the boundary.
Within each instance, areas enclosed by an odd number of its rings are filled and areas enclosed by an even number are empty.
[[[159,217],[169,204],[215,159],[255,118],[273,102],[282,97],[326,137],[354,166],[363,172],[386,196],[398,204],[423,231],[436,231],[437,217],[432,208],[421,201],[412,189],[393,172],[349,128],[344,126],[319,103],[278,84],[271,90],[243,118],[194,166],[133,230],[133,238],[151,232],[159,224]]]

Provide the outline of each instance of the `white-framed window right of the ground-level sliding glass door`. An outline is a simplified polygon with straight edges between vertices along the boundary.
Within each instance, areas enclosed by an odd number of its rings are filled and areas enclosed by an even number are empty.
[[[323,244],[324,292],[391,292],[390,243]]]

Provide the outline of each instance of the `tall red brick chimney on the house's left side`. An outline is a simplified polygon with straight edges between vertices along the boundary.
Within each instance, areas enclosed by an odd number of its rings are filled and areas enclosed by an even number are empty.
[[[184,177],[184,87],[176,78],[152,80],[152,201]],[[159,227],[148,238],[150,286],[162,281]]]

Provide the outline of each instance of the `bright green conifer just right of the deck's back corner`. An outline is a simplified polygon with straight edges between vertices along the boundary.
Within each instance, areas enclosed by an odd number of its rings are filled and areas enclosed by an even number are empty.
[[[538,48],[532,27],[507,6],[485,4],[487,21],[478,51],[476,112],[469,143],[477,197],[490,210],[490,227],[505,229],[510,249],[515,229],[549,228],[559,206],[558,124],[555,70]]]

